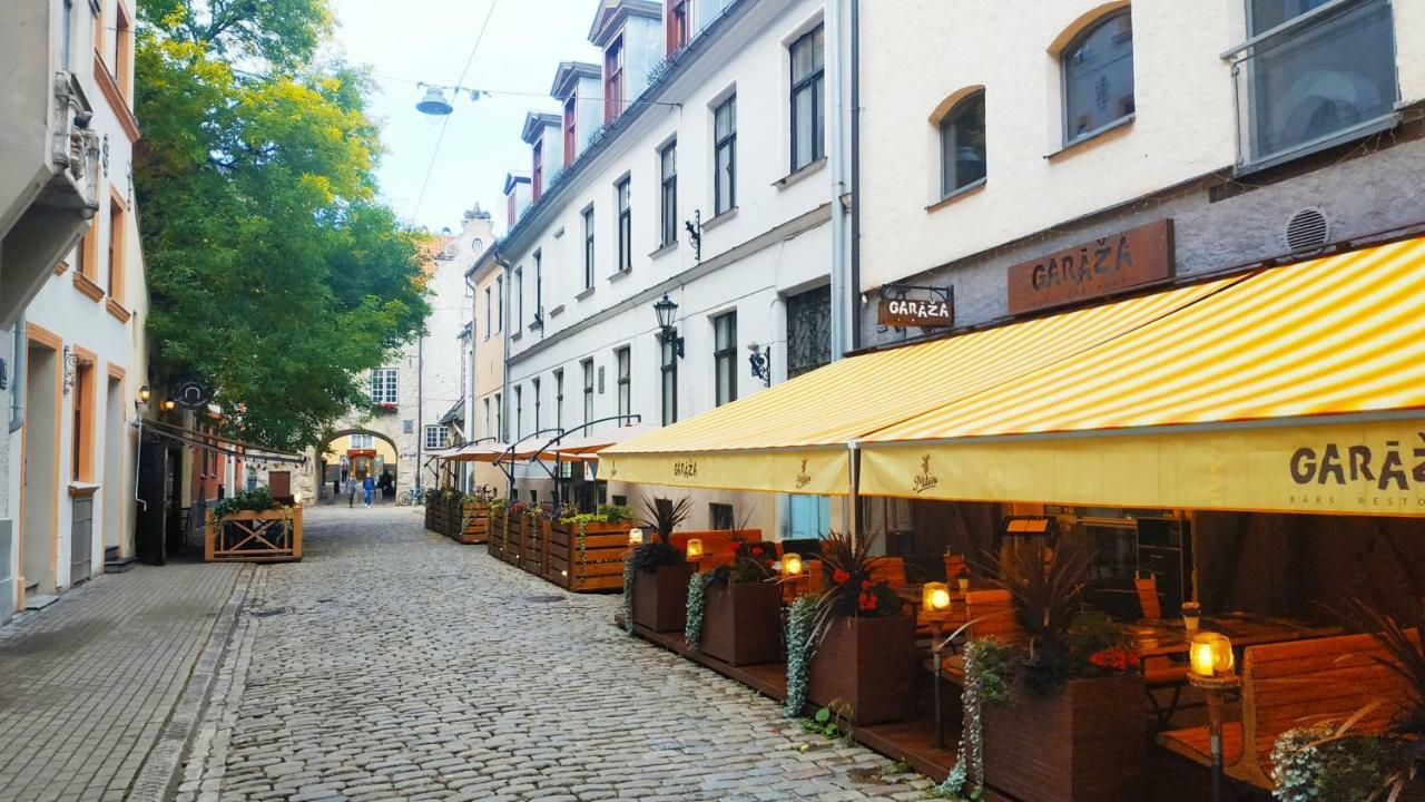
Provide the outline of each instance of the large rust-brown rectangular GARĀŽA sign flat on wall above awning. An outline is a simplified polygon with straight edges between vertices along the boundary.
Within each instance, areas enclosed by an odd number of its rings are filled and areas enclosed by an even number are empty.
[[[1009,268],[1012,314],[1121,293],[1173,275],[1173,221],[1159,220]]]

